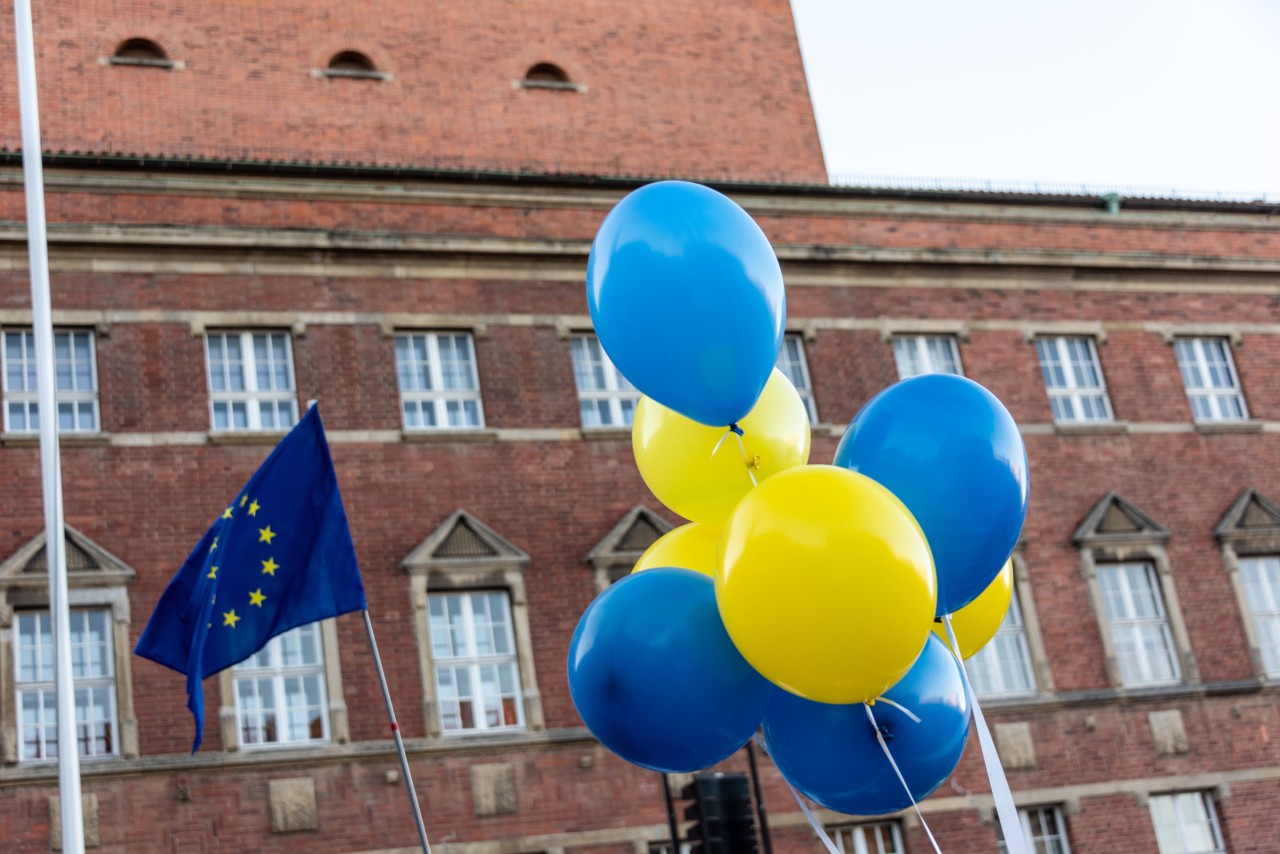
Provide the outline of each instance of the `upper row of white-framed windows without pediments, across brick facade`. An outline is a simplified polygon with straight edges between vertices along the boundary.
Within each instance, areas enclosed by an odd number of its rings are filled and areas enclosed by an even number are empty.
[[[297,421],[288,333],[219,332],[209,333],[205,342],[214,430],[284,430]],[[570,343],[582,426],[630,426],[640,392],[613,366],[595,335],[573,335]],[[1036,348],[1056,423],[1114,420],[1092,338],[1041,337]],[[1196,421],[1248,417],[1228,339],[1179,338],[1174,348]],[[35,351],[29,330],[4,333],[0,373],[6,433],[38,430]],[[484,426],[480,375],[470,333],[402,333],[396,335],[394,351],[406,430]],[[58,426],[63,431],[100,429],[93,352],[92,332],[54,334]],[[893,338],[893,355],[901,379],[925,373],[964,373],[951,335],[899,335]],[[817,423],[818,408],[800,335],[786,335],[777,366],[795,385],[810,421]]]

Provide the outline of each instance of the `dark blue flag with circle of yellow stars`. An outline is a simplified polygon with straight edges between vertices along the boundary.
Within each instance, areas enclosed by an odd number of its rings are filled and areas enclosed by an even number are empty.
[[[187,675],[195,753],[205,729],[205,677],[289,629],[366,607],[329,443],[312,406],[205,531],[133,652]]]

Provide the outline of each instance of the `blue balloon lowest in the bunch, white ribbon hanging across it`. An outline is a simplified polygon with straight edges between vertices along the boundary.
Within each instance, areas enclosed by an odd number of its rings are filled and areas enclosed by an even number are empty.
[[[915,800],[955,771],[969,737],[969,699],[960,663],[932,634],[924,650],[872,712]],[[764,716],[764,743],[778,771],[827,809],[882,816],[911,805],[876,740],[864,704],[814,703],[780,690]]]

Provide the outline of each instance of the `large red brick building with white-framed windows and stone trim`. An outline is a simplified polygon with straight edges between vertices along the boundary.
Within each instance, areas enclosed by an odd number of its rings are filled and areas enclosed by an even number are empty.
[[[590,737],[563,673],[585,606],[678,521],[635,470],[634,397],[582,287],[608,209],[676,175],[776,246],[812,460],[918,370],[963,370],[1019,421],[1016,607],[973,670],[1037,835],[1274,849],[1274,206],[828,187],[782,0],[77,0],[36,32],[91,844],[416,845],[357,618],[211,679],[193,757],[182,679],[129,654],[308,399],[436,849],[662,844],[660,777]],[[19,149],[6,76],[0,850],[42,851],[58,777]],[[774,846],[815,850],[762,773]],[[923,809],[943,850],[995,849],[975,744]],[[846,851],[928,848],[910,816],[819,816]]]

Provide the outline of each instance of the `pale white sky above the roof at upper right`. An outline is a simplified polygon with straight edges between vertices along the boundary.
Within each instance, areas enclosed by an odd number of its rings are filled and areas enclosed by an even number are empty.
[[[1280,0],[791,0],[835,179],[1280,198]]]

